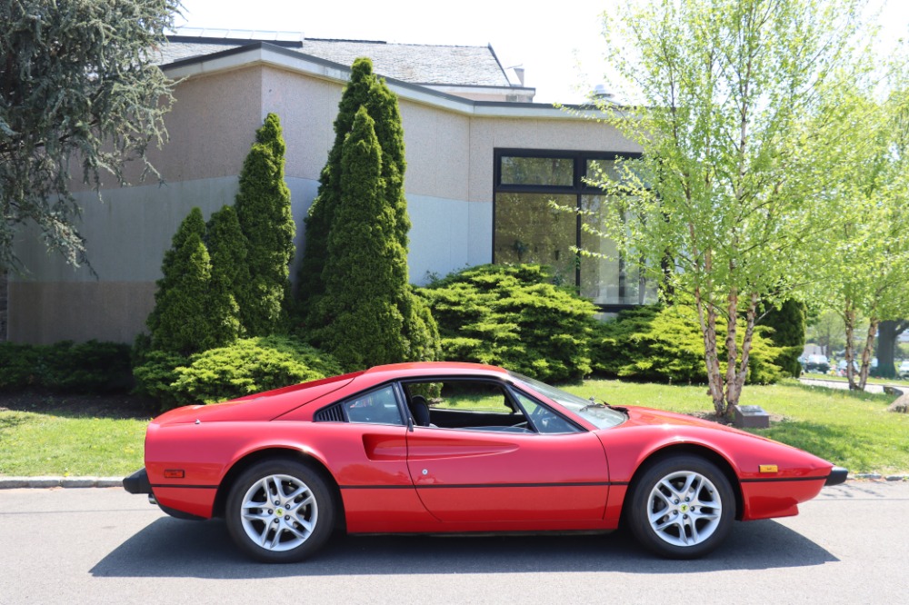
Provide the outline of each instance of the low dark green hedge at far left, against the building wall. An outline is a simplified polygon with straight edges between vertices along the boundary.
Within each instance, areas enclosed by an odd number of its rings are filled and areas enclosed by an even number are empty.
[[[125,390],[131,383],[127,344],[0,342],[0,391],[38,387],[58,392],[94,393]]]

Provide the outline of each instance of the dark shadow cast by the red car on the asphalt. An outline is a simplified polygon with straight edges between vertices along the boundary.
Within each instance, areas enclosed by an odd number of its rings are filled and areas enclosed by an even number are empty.
[[[163,518],[125,541],[91,573],[114,578],[255,579],[285,576],[616,571],[682,573],[806,567],[837,560],[776,521],[736,523],[700,560],[664,560],[624,532],[608,535],[338,536],[311,560],[267,565],[248,560],[222,521]]]

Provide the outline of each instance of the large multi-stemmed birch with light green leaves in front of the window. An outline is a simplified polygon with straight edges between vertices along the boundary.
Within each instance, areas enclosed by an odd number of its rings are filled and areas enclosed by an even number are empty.
[[[600,106],[644,156],[621,163],[621,183],[600,179],[611,212],[586,228],[694,300],[719,415],[742,395],[759,305],[794,295],[829,226],[816,203],[829,157],[817,142],[840,116],[822,114],[819,92],[852,63],[860,5],[649,0],[606,17],[614,89],[640,103]]]

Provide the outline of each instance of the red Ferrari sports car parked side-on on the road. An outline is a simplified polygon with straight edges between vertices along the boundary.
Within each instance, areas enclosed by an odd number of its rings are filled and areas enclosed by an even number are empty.
[[[165,512],[224,517],[257,560],[350,533],[610,531],[713,550],[733,521],[784,517],[846,470],[692,417],[585,400],[501,368],[375,367],[172,410],[124,480]]]

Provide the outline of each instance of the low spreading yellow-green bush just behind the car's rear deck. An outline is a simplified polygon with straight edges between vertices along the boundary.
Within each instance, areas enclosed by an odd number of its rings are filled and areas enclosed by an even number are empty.
[[[188,358],[149,352],[135,367],[137,391],[168,410],[215,403],[341,373],[323,352],[285,336],[241,339]]]

